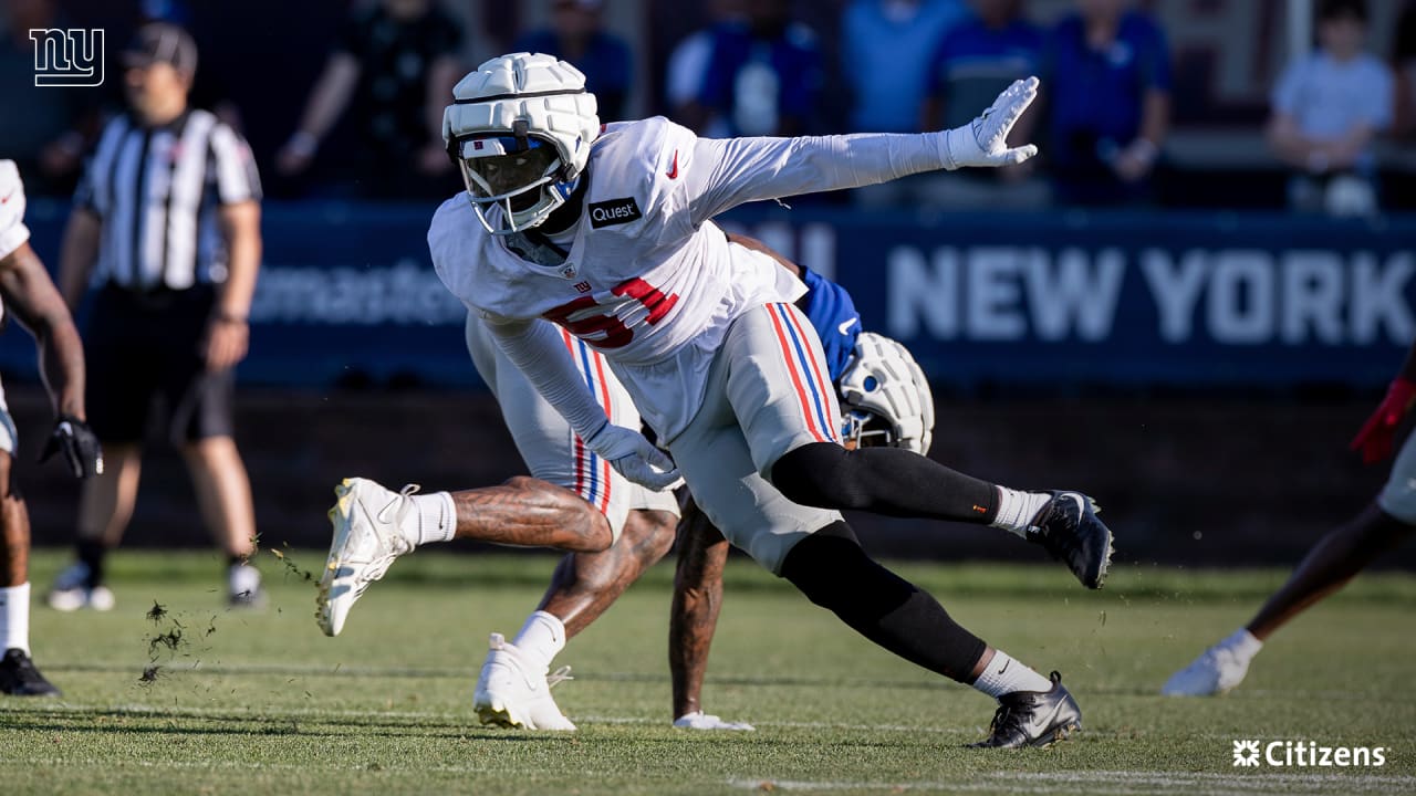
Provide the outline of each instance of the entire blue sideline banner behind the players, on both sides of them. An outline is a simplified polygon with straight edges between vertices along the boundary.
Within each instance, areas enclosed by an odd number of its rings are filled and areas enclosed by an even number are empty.
[[[35,203],[58,262],[61,205]],[[428,261],[432,207],[268,205],[246,384],[473,385],[464,310]],[[1416,218],[864,214],[745,208],[845,285],[865,327],[943,384],[1375,387],[1416,339]],[[33,375],[33,348],[0,346]]]

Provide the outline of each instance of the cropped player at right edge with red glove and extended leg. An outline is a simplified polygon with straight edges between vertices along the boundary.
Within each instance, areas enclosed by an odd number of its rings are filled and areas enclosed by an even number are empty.
[[[1372,416],[1362,423],[1352,450],[1362,462],[1374,465],[1392,455],[1396,426],[1416,401],[1416,344],[1406,353],[1400,374],[1392,380]],[[1386,486],[1362,511],[1327,533],[1259,613],[1205,650],[1189,666],[1165,681],[1161,693],[1170,697],[1208,697],[1223,694],[1249,673],[1249,663],[1279,627],[1308,606],[1341,589],[1378,555],[1406,541],[1416,530],[1416,435],[1408,435]]]

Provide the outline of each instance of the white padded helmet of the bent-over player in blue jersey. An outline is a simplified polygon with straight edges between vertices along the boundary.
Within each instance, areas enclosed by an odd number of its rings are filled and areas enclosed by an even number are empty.
[[[889,445],[929,453],[935,395],[925,371],[903,346],[871,331],[855,340],[841,374],[841,438],[858,448]]]

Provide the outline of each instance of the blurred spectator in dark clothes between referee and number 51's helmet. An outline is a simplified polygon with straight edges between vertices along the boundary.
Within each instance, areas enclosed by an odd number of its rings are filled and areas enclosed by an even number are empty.
[[[276,156],[286,176],[304,171],[340,115],[362,152],[348,170],[374,198],[439,197],[452,163],[442,112],[462,78],[462,27],[436,0],[379,0],[344,23],[314,82],[300,126]]]

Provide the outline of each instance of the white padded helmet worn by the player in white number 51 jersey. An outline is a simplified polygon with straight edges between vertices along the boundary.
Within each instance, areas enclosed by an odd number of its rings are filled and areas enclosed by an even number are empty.
[[[453,88],[453,103],[443,112],[447,154],[493,235],[535,227],[561,207],[579,184],[599,133],[585,75],[532,52],[477,67]],[[500,218],[489,220],[493,205]]]

